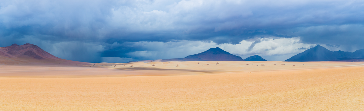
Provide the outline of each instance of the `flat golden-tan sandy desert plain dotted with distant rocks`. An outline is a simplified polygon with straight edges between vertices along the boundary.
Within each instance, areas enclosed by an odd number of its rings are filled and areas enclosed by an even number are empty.
[[[0,65],[0,110],[363,111],[363,64],[189,61],[96,63],[91,67]]]

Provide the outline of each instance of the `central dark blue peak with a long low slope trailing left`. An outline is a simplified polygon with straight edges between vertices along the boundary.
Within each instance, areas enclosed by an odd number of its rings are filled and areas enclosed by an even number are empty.
[[[229,52],[222,50],[221,48],[210,48],[207,51],[201,52],[199,54],[189,55],[185,58],[175,58],[175,59],[161,59],[161,60],[145,60],[145,61],[244,61],[239,56],[232,55]],[[131,62],[145,62],[145,61],[129,61]]]

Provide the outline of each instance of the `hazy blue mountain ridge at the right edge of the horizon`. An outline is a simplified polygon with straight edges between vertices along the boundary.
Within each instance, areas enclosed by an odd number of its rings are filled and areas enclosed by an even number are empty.
[[[329,51],[317,45],[285,61],[360,61],[364,57],[364,49],[355,52]]]

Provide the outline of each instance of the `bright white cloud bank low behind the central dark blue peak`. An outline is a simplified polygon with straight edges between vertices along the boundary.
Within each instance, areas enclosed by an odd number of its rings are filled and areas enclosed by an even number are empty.
[[[248,51],[250,45],[255,41],[261,41],[256,43],[251,50]],[[277,56],[280,58],[270,58],[271,60],[285,60],[288,58],[286,55],[295,55],[301,53],[308,48],[314,47],[317,44],[301,43],[300,38],[256,38],[249,40],[242,40],[238,44],[217,44],[214,42],[203,41],[189,41],[179,40],[177,42],[130,42],[130,47],[137,47],[145,49],[145,51],[129,52],[127,55],[142,57],[146,59],[171,59],[171,58],[183,58],[188,55],[198,54],[206,51],[209,48],[220,47],[223,50],[230,52],[231,54],[242,56],[243,59],[252,55],[260,56]]]

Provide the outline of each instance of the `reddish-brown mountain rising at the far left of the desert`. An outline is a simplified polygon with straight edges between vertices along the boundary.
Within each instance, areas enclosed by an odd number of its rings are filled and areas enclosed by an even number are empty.
[[[26,43],[24,45],[12,44],[8,47],[0,47],[0,61],[13,62],[13,63],[67,63],[67,64],[87,64],[79,61],[71,61],[60,59],[40,47]]]

